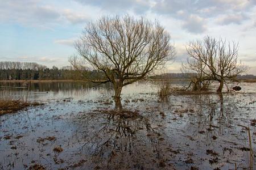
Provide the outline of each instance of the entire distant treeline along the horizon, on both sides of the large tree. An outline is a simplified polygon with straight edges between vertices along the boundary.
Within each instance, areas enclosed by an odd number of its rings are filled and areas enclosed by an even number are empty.
[[[195,73],[164,73],[150,76],[152,79],[189,79]],[[64,79],[101,79],[104,74],[96,70],[83,70],[82,73],[72,66],[51,69],[35,62],[0,62],[0,80],[64,80]],[[238,75],[238,79],[256,79],[255,75]]]

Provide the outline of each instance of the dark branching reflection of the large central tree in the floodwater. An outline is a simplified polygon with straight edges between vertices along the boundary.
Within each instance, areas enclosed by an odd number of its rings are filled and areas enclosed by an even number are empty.
[[[162,134],[151,127],[153,120],[150,117],[125,110],[100,111],[84,116],[81,120],[89,124],[86,127],[91,130],[83,139],[85,143],[81,152],[89,153],[88,159],[94,165],[100,163],[100,167],[106,168],[150,168],[148,162],[156,162],[157,167],[164,160],[159,148]]]

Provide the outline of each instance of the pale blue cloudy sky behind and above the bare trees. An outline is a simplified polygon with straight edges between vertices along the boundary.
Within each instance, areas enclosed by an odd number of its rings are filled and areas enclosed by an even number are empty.
[[[170,33],[179,73],[185,46],[205,36],[239,42],[239,59],[256,75],[256,0],[0,0],[0,61],[67,66],[86,23],[104,15],[144,16]]]

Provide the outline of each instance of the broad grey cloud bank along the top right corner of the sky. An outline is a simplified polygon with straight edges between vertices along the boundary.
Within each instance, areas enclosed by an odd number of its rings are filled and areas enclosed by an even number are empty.
[[[219,16],[222,18],[218,20],[218,24],[241,24],[249,19],[242,12],[249,11],[255,5],[256,1],[244,0],[164,0],[157,1],[151,10],[183,20],[185,22],[183,28],[189,32],[198,33],[207,29],[203,22],[205,19]]]

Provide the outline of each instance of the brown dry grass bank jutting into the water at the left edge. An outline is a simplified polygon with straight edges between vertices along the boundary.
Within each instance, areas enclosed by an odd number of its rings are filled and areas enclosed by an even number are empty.
[[[24,108],[27,108],[29,106],[36,106],[40,105],[38,102],[27,102],[23,100],[5,100],[0,99],[0,116],[7,113],[14,113],[17,111],[20,111]]]

